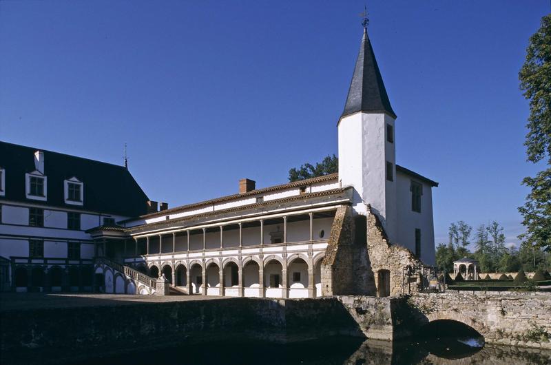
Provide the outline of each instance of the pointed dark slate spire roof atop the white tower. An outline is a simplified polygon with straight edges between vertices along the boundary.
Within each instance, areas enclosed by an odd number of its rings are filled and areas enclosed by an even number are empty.
[[[355,112],[386,113],[396,118],[366,28],[341,118]]]

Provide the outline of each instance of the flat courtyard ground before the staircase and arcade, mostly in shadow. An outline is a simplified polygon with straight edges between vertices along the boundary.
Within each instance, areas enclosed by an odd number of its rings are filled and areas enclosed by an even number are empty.
[[[188,300],[229,300],[231,297],[205,295],[126,295],[93,293],[0,293],[0,311],[56,309],[79,306],[121,306],[183,302]]]

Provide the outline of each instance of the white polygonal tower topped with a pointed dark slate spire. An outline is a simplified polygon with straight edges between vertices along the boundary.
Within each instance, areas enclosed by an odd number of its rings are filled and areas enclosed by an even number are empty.
[[[396,242],[395,119],[391,103],[364,29],[339,134],[339,179],[354,187],[353,209],[366,204],[381,219],[388,238]]]

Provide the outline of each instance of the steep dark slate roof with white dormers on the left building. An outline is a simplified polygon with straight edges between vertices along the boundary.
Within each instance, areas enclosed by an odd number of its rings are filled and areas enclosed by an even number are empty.
[[[25,197],[25,173],[35,170],[37,150],[44,152],[44,172],[48,178],[46,202]],[[6,170],[6,196],[0,196],[0,202],[34,202],[121,216],[147,213],[149,198],[123,166],[0,141],[0,167]],[[63,180],[73,176],[84,183],[83,206],[65,204]]]

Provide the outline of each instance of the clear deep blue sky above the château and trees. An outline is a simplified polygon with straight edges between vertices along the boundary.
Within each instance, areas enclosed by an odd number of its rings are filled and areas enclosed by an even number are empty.
[[[171,207],[337,152],[364,1],[0,0],[0,140],[121,164]],[[369,1],[397,163],[450,222],[522,231],[518,71],[548,0]]]

